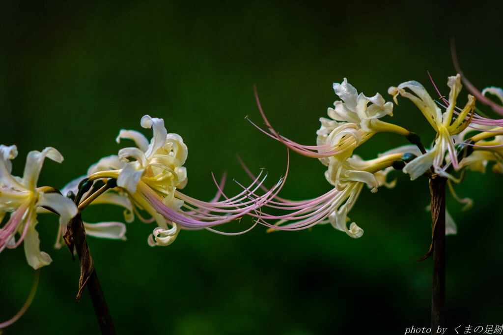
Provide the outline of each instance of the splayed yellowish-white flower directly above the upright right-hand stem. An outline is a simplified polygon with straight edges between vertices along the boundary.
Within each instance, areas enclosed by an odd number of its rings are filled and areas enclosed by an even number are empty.
[[[393,96],[393,100],[398,104],[397,97],[401,95],[411,100],[423,113],[428,122],[437,132],[437,138],[433,148],[427,153],[415,158],[403,168],[404,173],[410,175],[410,179],[414,180],[423,175],[432,166],[435,173],[450,179],[454,179],[450,174],[443,169],[446,152],[449,153],[453,167],[458,170],[458,159],[454,148],[453,135],[464,130],[470,123],[475,109],[475,98],[468,95],[468,102],[459,115],[453,119],[456,100],[461,91],[461,78],[457,76],[449,77],[447,85],[451,89],[449,93],[449,106],[442,113],[435,101],[430,97],[426,89],[416,81],[409,81],[398,85],[398,87],[390,87],[388,93]],[[410,90],[412,93],[406,91]]]

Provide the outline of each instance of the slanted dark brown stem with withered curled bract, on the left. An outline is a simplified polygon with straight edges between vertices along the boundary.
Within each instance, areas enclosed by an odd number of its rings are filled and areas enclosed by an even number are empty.
[[[80,280],[77,301],[80,299],[84,286],[87,286],[96,312],[96,317],[98,318],[98,323],[100,324],[101,333],[116,334],[112,317],[108,310],[107,301],[103,295],[100,281],[98,280],[98,275],[94,268],[93,258],[91,257],[86,241],[86,233],[82,219],[80,218],[80,213],[70,221],[68,227],[71,227],[71,229],[67,231],[65,239],[68,237],[70,240],[66,242],[67,244],[69,242],[69,244],[75,246],[78,258],[80,259]]]

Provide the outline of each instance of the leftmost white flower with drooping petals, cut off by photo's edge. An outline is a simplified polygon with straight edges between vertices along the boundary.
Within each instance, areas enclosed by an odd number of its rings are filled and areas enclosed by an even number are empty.
[[[23,178],[11,175],[11,160],[17,155],[16,146],[0,145],[0,222],[7,213],[11,213],[8,222],[0,228],[0,252],[6,247],[15,248],[24,241],[28,264],[38,269],[48,265],[52,259],[49,254],[40,251],[40,239],[35,229],[38,223],[37,210],[49,208],[58,213],[60,226],[63,226],[77,214],[77,208],[54,188],[37,188],[44,159],[49,158],[58,163],[63,161],[63,156],[56,149],[48,147],[42,152],[29,152]],[[17,240],[16,234],[19,234]]]

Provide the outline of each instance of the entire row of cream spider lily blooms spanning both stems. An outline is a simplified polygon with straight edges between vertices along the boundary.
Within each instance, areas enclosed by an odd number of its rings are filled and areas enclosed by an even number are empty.
[[[260,223],[272,230],[297,230],[330,223],[334,228],[358,238],[363,235],[363,229],[354,222],[348,227],[348,212],[355,205],[358,195],[365,185],[371,192],[376,192],[380,186],[393,187],[396,180],[387,182],[387,174],[400,169],[412,180],[432,174],[448,178],[455,198],[469,207],[471,200],[460,199],[451,181],[459,182],[464,170],[485,171],[488,162],[494,162],[494,172],[503,171],[503,127],[500,120],[491,121],[474,112],[475,98],[472,95],[468,95],[468,102],[463,108],[456,106],[462,89],[460,75],[449,77],[447,85],[450,88],[448,99],[441,96],[445,105],[432,99],[426,89],[415,81],[404,82],[388,90],[395,104],[398,104],[398,96],[412,101],[435,129],[437,136],[430,149],[425,149],[414,133],[382,120],[393,115],[393,102],[386,101],[379,93],[371,97],[358,93],[347,79],[333,84],[340,100],[334,102],[333,108],[328,108],[328,118],[320,118],[321,126],[316,131],[316,145],[313,146],[301,145],[280,136],[269,123],[257,97],[269,132],[261,130],[290,150],[317,158],[326,166],[325,178],[333,188],[308,200],[294,201],[278,196],[286,176],[269,189],[263,184],[265,176],[262,173],[255,177],[249,171],[253,182],[248,187],[243,186],[242,192],[235,196],[225,195],[223,184],[217,184],[217,194],[209,202],[183,193],[181,190],[187,184],[187,169],[184,166],[188,156],[187,145],[178,134],[167,132],[163,119],[149,115],[143,116],[140,124],[143,128],[152,129],[150,141],[136,130],[120,130],[117,143],[131,140],[135,147],[123,148],[117,155],[100,159],[85,176],[68,183],[61,192],[53,187],[36,186],[46,157],[56,162],[63,160],[56,149],[30,152],[24,175],[20,178],[11,174],[11,160],[17,156],[17,148],[2,145],[0,252],[24,241],[31,266],[38,269],[49,264],[50,256],[40,251],[39,247],[35,229],[37,213],[54,212],[60,216],[56,243],[60,246],[70,219],[90,204],[120,206],[125,210],[126,222],[132,222],[135,217],[146,223],[155,222],[157,227],[147,239],[152,246],[173,243],[181,229],[204,228],[218,232],[211,227],[239,220],[244,215],[255,218],[255,225]],[[503,102],[503,90],[499,88],[486,88],[482,93],[476,91],[475,95],[484,96],[487,93]],[[359,146],[380,132],[395,133],[412,145],[388,149],[371,160],[363,160],[355,154]],[[258,194],[260,189],[264,190],[262,195]],[[266,208],[287,213],[272,215]],[[149,218],[144,218],[142,211]],[[9,219],[5,219],[7,214]],[[448,226],[448,231],[456,231],[453,224]],[[90,236],[125,239],[126,226],[121,222],[85,222],[84,227]]]

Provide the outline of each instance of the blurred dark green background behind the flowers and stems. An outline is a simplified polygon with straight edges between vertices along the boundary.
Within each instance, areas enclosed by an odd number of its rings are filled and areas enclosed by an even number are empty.
[[[46,161],[39,185],[62,187],[123,146],[119,129],[151,131],[144,114],[162,117],[189,148],[184,192],[210,199],[211,178],[227,171],[229,193],[247,183],[236,160],[265,167],[273,185],[286,168],[286,150],[244,117],[262,124],[253,86],[271,123],[284,136],[315,144],[319,117],[337,97],[333,82],[347,77],[367,96],[407,80],[431,90],[427,70],[443,92],[454,74],[455,37],[464,73],[478,87],[500,77],[501,6],[478,2],[4,2],[0,11],[0,143],[16,144],[14,172],[26,154],[56,147],[65,157]],[[466,101],[463,91],[461,104]],[[388,121],[422,136],[433,130],[401,99]],[[480,107],[480,106],[479,106]],[[483,109],[483,106],[481,107]],[[358,148],[370,159],[406,144],[377,135]],[[317,160],[291,156],[281,193],[306,199],[330,189]],[[400,334],[430,324],[432,259],[417,262],[431,242],[426,178],[364,189],[350,212],[365,230],[351,239],[331,226],[240,236],[183,231],[168,247],[151,248],[155,227],[135,221],[127,241],[89,239],[118,333],[162,334]],[[470,173],[456,187],[474,207],[448,210],[458,224],[447,238],[447,326],[503,324],[501,305],[501,176]],[[119,209],[86,210],[90,222],[122,220]],[[54,250],[57,219],[40,215],[44,267],[37,296],[5,334],[99,332],[86,292],[75,303],[79,263]],[[238,231],[244,219],[221,229]],[[22,248],[0,256],[0,319],[28,296],[33,270]]]

